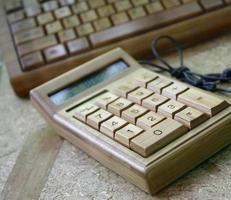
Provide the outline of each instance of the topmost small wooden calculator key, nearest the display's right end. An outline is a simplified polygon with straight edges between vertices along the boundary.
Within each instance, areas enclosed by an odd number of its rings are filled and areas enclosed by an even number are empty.
[[[147,87],[147,83],[156,79],[158,76],[152,72],[143,72],[135,77],[134,83],[141,87]]]

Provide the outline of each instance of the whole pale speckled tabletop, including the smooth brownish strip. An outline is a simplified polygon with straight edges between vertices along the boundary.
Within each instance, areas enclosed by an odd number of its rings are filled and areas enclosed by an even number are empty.
[[[0,47],[4,62],[9,63],[12,47],[9,47],[10,36],[7,35],[2,8],[0,25]],[[177,66],[176,54],[168,58]],[[231,34],[187,49],[185,63],[200,73],[218,72],[231,67]],[[29,100],[15,96],[6,67],[0,67],[0,197],[126,200],[231,198],[230,146],[156,197],[151,197],[67,141],[63,143]],[[231,98],[229,95],[226,97]]]

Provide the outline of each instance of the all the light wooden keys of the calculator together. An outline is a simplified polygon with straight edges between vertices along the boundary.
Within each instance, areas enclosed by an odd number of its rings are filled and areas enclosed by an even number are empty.
[[[155,73],[136,74],[74,108],[73,117],[148,157],[228,106]]]

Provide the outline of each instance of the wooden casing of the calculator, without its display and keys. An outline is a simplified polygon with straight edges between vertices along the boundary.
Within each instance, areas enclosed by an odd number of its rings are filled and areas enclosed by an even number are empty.
[[[49,99],[49,94],[118,59],[129,65],[121,74],[70,98],[63,105],[54,105]],[[144,191],[154,194],[231,142],[231,107],[147,158],[65,114],[68,108],[87,101],[89,96],[105,88],[110,89],[110,84],[116,84],[115,81],[137,70],[144,68],[117,48],[33,89],[30,94],[35,107],[58,134]]]

